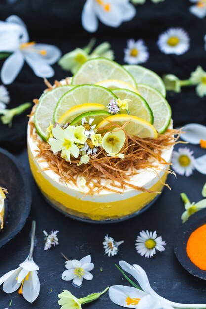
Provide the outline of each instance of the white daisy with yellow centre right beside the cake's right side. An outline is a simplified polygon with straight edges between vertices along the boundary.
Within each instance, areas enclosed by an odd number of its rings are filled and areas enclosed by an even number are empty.
[[[172,155],[172,168],[179,175],[190,176],[195,169],[195,158],[193,151],[189,148],[179,148]]]

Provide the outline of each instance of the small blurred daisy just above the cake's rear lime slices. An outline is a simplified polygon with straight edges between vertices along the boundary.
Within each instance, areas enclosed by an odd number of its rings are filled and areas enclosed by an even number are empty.
[[[134,39],[127,41],[124,49],[124,62],[128,64],[144,63],[149,59],[148,48],[142,39],[135,42]]]

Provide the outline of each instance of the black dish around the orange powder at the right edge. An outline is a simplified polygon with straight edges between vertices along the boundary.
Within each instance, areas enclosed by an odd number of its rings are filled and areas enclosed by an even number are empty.
[[[193,214],[177,230],[174,240],[174,252],[182,266],[193,276],[206,280],[206,271],[193,264],[186,252],[188,239],[193,231],[206,224],[206,209]]]

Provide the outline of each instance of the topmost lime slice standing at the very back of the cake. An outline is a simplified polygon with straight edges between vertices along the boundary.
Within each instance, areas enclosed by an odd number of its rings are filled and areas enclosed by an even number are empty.
[[[117,62],[106,58],[93,58],[86,61],[72,78],[73,85],[95,84],[106,79],[128,82],[136,88],[134,77]]]

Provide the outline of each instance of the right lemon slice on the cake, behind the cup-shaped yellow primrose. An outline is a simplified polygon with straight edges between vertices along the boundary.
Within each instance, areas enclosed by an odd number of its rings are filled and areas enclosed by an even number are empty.
[[[126,132],[129,134],[140,138],[157,138],[157,131],[152,124],[132,115],[118,114],[109,116],[97,125],[97,130],[101,130],[101,128],[108,125],[109,121],[115,122],[120,126],[129,121],[129,123],[124,127]]]

